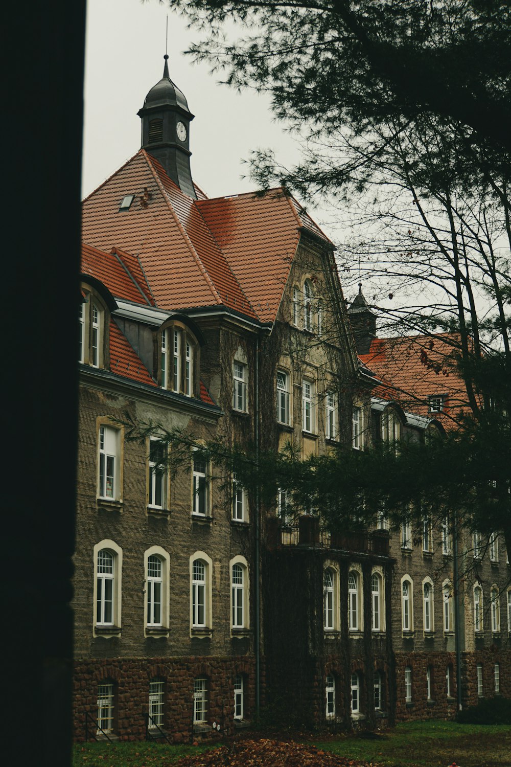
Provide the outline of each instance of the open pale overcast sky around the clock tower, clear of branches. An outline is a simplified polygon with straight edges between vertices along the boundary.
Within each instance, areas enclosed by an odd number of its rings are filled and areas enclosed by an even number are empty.
[[[87,0],[83,195],[140,147],[140,118],[149,89],[163,73],[165,18],[169,15],[169,71],[195,114],[190,127],[192,176],[210,197],[254,189],[242,160],[270,146],[290,165],[298,147],[275,123],[267,97],[238,94],[218,84],[206,64],[182,55],[197,33],[158,0]],[[315,216],[313,209],[310,209]]]

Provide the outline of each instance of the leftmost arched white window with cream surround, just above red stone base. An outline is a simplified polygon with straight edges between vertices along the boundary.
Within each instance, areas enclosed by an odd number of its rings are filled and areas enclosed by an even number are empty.
[[[117,633],[121,627],[123,549],[105,539],[94,546],[93,561],[94,632],[101,630],[104,634],[110,629]]]

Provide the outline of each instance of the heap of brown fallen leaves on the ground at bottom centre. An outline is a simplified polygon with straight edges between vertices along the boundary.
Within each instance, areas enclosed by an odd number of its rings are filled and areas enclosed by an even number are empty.
[[[316,746],[280,740],[243,740],[193,756],[178,767],[377,767],[374,762],[346,759]]]

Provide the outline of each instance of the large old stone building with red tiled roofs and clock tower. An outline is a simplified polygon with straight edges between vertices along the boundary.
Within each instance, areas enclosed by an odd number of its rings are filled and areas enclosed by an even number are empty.
[[[441,421],[376,390],[332,243],[292,197],[201,192],[166,57],[139,117],[141,149],[84,200],[75,736],[213,736],[260,707],[310,726],[451,716],[448,536],[414,547],[385,520],[332,535],[318,509],[248,493],[193,449],[360,451]],[[188,463],[165,454],[169,433]],[[505,558],[481,564],[481,616]],[[481,622],[464,638],[480,650],[465,701],[476,683],[509,694],[510,598],[498,637]]]

